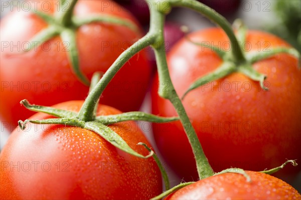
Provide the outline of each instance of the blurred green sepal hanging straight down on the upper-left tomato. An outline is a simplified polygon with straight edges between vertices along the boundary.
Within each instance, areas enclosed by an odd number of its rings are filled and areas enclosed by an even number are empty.
[[[80,71],[79,66],[79,55],[76,46],[76,36],[72,29],[65,29],[61,33],[62,41],[66,43],[66,49],[68,54],[68,59],[70,61],[71,67],[77,78],[85,85],[90,85],[88,78]]]

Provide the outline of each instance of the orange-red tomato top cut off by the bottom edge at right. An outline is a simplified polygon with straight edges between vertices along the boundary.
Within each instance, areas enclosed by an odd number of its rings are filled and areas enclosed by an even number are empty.
[[[246,171],[251,178],[237,173],[224,173],[199,180],[173,194],[176,199],[301,199],[301,195],[286,182],[268,174]]]

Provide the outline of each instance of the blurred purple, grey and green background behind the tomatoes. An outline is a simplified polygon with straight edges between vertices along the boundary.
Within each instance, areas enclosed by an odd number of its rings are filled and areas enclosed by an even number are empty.
[[[0,0],[0,17],[3,18],[5,15],[11,12],[11,7],[6,7],[7,3],[9,3],[10,5],[18,5],[18,2],[22,1]],[[129,11],[134,11],[133,14],[143,25],[144,31],[146,33],[149,23],[149,14],[146,4],[143,4],[142,0],[117,0],[116,2],[124,6]],[[301,1],[299,0],[203,0],[201,2],[207,4],[209,7],[212,7],[217,12],[222,14],[230,21],[230,23],[232,23],[235,19],[240,18],[249,29],[271,32],[289,42],[299,52],[301,50]],[[137,9],[138,7],[140,7],[140,9]],[[181,31],[182,26],[186,26],[186,29],[188,29],[189,32],[192,32],[207,27],[213,27],[215,25],[213,25],[202,15],[197,14],[193,11],[190,11],[188,9],[175,8],[167,16],[167,26],[165,33],[166,39],[171,44],[175,43],[177,40],[184,36],[184,33]],[[150,59],[153,59],[153,63],[155,62],[152,55],[150,55]],[[150,103],[151,102],[148,93],[141,107],[141,111],[150,112]],[[149,126],[151,125],[149,124]],[[144,132],[145,136],[153,143],[153,146],[155,146],[152,134],[145,130]],[[9,131],[4,127],[3,123],[1,123],[1,149],[5,145],[8,137]],[[165,165],[165,167],[167,167],[167,171],[171,179],[171,184],[175,185],[179,183],[181,181],[181,178],[177,177],[167,164],[163,164]],[[298,177],[288,180],[288,182],[295,188],[297,188],[299,192],[301,191],[301,173],[299,173]]]

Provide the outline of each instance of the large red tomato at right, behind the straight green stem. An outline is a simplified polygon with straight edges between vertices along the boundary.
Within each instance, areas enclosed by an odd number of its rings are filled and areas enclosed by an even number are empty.
[[[188,37],[225,50],[230,44],[225,33],[217,28]],[[288,46],[281,39],[259,31],[249,31],[246,41],[246,54]],[[177,43],[168,55],[171,79],[180,96],[221,63],[215,52],[187,39]],[[278,54],[254,63],[253,67],[267,75],[268,91],[245,75],[233,73],[191,91],[183,100],[216,172],[230,167],[260,171],[279,166],[286,158],[301,159],[301,73],[296,58]],[[158,89],[164,90],[167,85],[160,86],[157,76],[152,89],[153,114],[175,116],[172,104],[157,94]],[[154,136],[172,168],[187,180],[197,180],[193,153],[181,123],[154,124]],[[281,171],[295,173],[299,169],[289,166]]]

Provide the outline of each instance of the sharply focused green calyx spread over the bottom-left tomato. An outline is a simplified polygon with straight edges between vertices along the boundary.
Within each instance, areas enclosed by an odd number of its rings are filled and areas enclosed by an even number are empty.
[[[131,149],[126,142],[112,129],[110,129],[107,125],[116,124],[118,122],[128,121],[128,120],[139,120],[139,121],[150,121],[157,123],[164,123],[178,120],[178,117],[170,117],[164,118],[156,115],[151,115],[142,112],[127,112],[116,115],[107,115],[107,116],[98,116],[95,117],[92,121],[83,121],[78,118],[77,112],[47,107],[47,106],[39,106],[39,105],[31,105],[27,100],[22,100],[20,102],[23,106],[31,111],[43,112],[50,114],[52,116],[58,118],[52,119],[44,119],[44,120],[19,120],[19,126],[22,130],[26,128],[26,124],[28,122],[34,124],[61,124],[67,126],[76,126],[80,128],[85,128],[91,131],[94,131],[101,137],[103,137],[106,141],[114,145],[115,147],[137,157],[148,158],[153,156],[153,153],[150,153],[147,156],[143,156],[133,149]],[[143,116],[143,117],[141,117]],[[122,123],[120,124],[122,126]]]

